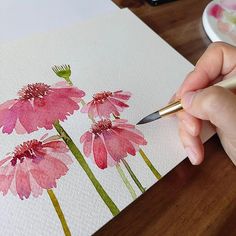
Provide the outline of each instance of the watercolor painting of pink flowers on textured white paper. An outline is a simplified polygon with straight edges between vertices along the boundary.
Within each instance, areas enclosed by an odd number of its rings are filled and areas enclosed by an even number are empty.
[[[92,235],[186,157],[174,117],[136,124],[193,66],[129,10],[0,52],[2,234]]]

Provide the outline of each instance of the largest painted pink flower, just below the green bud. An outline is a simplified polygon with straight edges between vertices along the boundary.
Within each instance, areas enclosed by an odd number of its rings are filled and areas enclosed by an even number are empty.
[[[57,120],[79,109],[85,95],[66,82],[55,85],[28,84],[18,92],[18,98],[0,104],[0,128],[3,133],[31,133],[39,128],[52,129]]]

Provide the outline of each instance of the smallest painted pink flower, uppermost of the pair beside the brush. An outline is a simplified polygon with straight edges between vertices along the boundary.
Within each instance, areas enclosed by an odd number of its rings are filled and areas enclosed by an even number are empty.
[[[130,96],[130,92],[122,90],[96,93],[93,95],[93,100],[87,103],[81,112],[88,113],[92,118],[109,118],[111,114],[119,116],[124,108],[129,107],[125,102],[129,100]]]

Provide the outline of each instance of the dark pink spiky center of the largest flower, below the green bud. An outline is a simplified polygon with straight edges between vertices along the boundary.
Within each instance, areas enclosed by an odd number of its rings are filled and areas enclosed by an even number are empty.
[[[42,98],[48,94],[50,86],[44,83],[28,84],[19,92],[19,99],[30,100],[32,98]]]

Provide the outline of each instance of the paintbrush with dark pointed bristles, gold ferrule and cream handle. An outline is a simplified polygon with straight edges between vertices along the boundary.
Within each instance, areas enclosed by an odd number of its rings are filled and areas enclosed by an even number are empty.
[[[226,80],[222,80],[217,84],[214,84],[213,86],[220,86],[226,89],[235,89],[236,88],[236,75],[234,75],[233,77],[226,79]],[[182,110],[183,107],[181,105],[181,101],[175,101],[172,102],[170,104],[168,104],[167,106],[163,107],[162,109],[153,112],[152,114],[144,117],[142,120],[140,120],[137,125],[141,125],[141,124],[146,124],[149,122],[152,122],[154,120],[158,120],[164,116],[173,114],[175,112],[178,112],[180,110]]]

